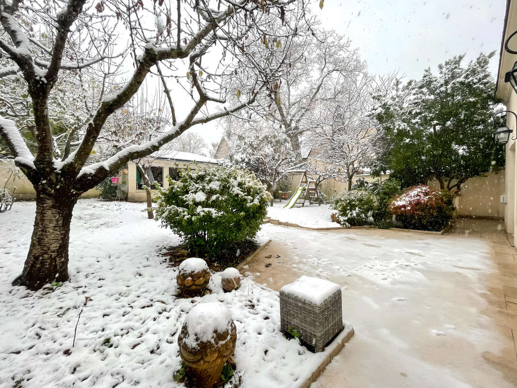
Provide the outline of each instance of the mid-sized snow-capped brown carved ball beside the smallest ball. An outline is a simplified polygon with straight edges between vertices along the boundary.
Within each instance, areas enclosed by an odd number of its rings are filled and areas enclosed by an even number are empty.
[[[210,281],[210,270],[205,260],[191,257],[179,264],[176,282],[183,295],[201,295],[208,286],[208,281]]]

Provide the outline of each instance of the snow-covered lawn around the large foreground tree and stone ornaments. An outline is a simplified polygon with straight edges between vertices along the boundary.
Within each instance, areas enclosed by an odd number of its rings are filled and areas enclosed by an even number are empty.
[[[70,236],[70,282],[36,293],[10,282],[22,269],[35,203],[0,217],[0,386],[176,387],[177,336],[197,303],[220,301],[237,326],[235,360],[244,387],[293,387],[325,353],[280,334],[278,294],[243,279],[223,293],[177,299],[176,268],[159,255],[178,237],[148,220],[143,204],[80,200]],[[77,338],[72,349],[78,315]]]

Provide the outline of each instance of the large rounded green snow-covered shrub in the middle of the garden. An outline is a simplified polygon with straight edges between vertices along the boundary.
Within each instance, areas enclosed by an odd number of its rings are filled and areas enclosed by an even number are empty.
[[[267,214],[269,193],[247,170],[182,170],[161,189],[157,219],[198,256],[216,258],[228,245],[253,237]]]

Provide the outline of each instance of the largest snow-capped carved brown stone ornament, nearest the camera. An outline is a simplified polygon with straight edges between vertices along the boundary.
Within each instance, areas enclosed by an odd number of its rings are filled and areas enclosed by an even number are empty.
[[[179,355],[194,386],[212,387],[235,350],[237,329],[230,311],[221,302],[194,306],[178,335]]]

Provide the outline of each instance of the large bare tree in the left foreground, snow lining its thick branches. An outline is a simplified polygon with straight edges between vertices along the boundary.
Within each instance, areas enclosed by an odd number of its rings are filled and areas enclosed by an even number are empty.
[[[0,136],[36,190],[31,246],[13,285],[36,290],[47,282],[68,279],[70,220],[83,192],[194,125],[251,106],[263,88],[270,88],[290,61],[287,52],[301,28],[297,24],[303,20],[302,4],[0,0],[0,50],[9,58],[0,76],[23,76],[21,87],[31,100],[28,114],[35,137],[31,151],[20,132],[20,117],[0,114]],[[273,39],[282,45],[266,44]],[[238,90],[222,86],[235,73],[246,84]],[[74,112],[80,113],[80,120],[67,129],[60,148],[50,112],[56,103],[56,84],[68,74],[78,78],[88,74],[97,80],[96,103],[90,110],[78,101]],[[86,165],[109,117],[125,109],[153,74],[168,100],[171,126],[142,144],[128,145]],[[9,102],[9,96],[5,99]]]

